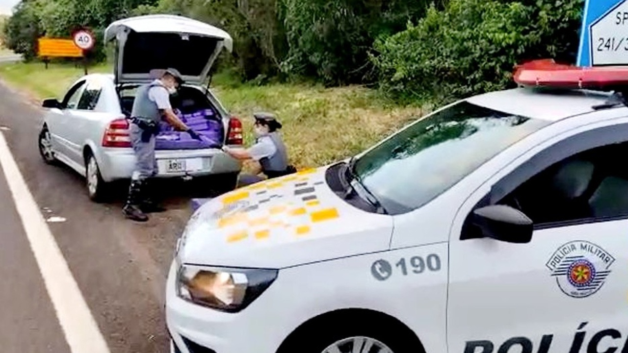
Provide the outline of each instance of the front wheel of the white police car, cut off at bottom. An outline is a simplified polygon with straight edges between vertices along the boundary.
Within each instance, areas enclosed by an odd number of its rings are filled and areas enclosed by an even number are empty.
[[[306,324],[307,325],[307,324]],[[396,325],[377,325],[371,320],[344,320],[339,326],[333,322],[301,327],[286,339],[278,353],[424,353],[423,346],[408,329],[396,330]],[[368,349],[371,345],[371,349]],[[357,347],[356,347],[357,346]]]

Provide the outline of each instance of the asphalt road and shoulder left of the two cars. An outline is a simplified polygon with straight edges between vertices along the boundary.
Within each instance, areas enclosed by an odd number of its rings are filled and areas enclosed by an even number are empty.
[[[59,258],[67,263],[109,351],[168,352],[165,278],[176,237],[190,215],[189,198],[170,197],[168,212],[153,215],[146,224],[122,217],[124,190],[112,204],[90,202],[81,176],[41,161],[37,149],[41,116],[40,109],[0,84],[0,133],[48,220],[39,222],[48,225],[62,254]],[[5,161],[0,161],[4,168]],[[16,179],[0,174],[0,345],[6,353],[70,352],[68,332],[80,330],[79,323],[66,325],[64,335],[63,320],[58,318],[62,315],[55,315],[54,295],[45,286],[45,280],[60,283],[62,278],[55,277],[61,274],[42,271],[45,262],[38,266],[24,225],[33,228],[37,217],[18,215],[16,205],[23,197],[14,201],[15,192],[9,188]]]

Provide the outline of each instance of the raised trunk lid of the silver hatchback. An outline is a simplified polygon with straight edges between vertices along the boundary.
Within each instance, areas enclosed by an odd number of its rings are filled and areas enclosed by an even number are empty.
[[[117,40],[116,83],[145,83],[159,70],[176,68],[189,84],[203,84],[222,48],[231,52],[229,33],[183,16],[156,14],[109,24],[105,42]]]

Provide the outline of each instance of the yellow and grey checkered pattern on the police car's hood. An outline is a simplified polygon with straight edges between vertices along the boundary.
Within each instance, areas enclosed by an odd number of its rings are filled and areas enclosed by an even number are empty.
[[[242,200],[254,200],[257,202],[249,205],[247,209],[236,214],[223,217],[218,220],[217,227],[225,229],[236,227],[239,230],[227,234],[227,242],[239,242],[244,239],[268,239],[274,231],[293,236],[305,236],[311,232],[311,227],[321,222],[338,219],[340,215],[335,207],[324,207],[316,195],[316,186],[323,182],[311,182],[308,174],[315,170],[300,171],[294,175],[284,176],[276,180],[267,180],[249,187],[241,188],[234,193],[225,195],[222,203],[226,207],[234,202]],[[295,187],[294,194],[301,198],[302,202],[295,205],[293,202],[276,205],[264,210],[262,214],[256,212],[259,206],[272,198],[282,197],[272,191],[279,187],[292,183]],[[288,188],[290,190],[290,188]]]

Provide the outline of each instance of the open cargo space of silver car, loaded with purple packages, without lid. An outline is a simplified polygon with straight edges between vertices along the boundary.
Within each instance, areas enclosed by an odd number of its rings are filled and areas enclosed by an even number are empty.
[[[138,85],[123,85],[120,89],[120,106],[127,117],[131,109]],[[219,111],[210,100],[194,87],[182,86],[176,97],[171,97],[175,113],[202,141],[192,139],[190,134],[175,131],[170,124],[161,122],[161,132],[156,136],[155,149],[203,149],[220,148],[225,141],[225,126]]]

